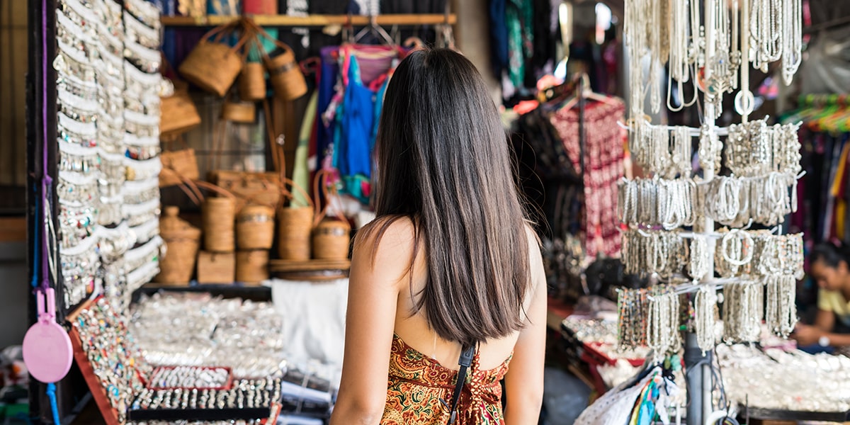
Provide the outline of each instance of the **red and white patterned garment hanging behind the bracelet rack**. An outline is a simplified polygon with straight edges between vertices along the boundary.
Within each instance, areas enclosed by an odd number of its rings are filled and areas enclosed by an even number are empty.
[[[617,218],[617,182],[623,177],[623,121],[626,106],[621,99],[610,103],[592,102],[585,108],[584,195],[586,219],[583,224],[588,257],[598,253],[617,256],[621,235]],[[552,125],[564,140],[573,167],[581,169],[578,108],[562,109],[552,116]]]

